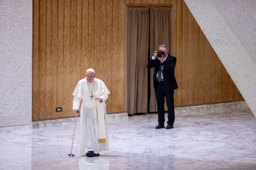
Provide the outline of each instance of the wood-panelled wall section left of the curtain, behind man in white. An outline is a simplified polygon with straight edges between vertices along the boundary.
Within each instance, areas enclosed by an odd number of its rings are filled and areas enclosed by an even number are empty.
[[[119,0],[33,0],[33,121],[74,116],[72,93],[88,68],[111,92],[107,113],[124,111],[124,7]]]

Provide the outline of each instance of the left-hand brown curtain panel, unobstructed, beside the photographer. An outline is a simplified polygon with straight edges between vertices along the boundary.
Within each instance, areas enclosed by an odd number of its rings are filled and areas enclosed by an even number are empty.
[[[149,8],[128,8],[127,111],[147,113]]]

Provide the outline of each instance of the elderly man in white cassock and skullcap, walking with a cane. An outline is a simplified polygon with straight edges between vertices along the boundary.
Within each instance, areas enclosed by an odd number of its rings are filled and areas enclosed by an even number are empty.
[[[74,90],[73,111],[80,111],[80,153],[88,157],[99,156],[100,151],[109,150],[106,122],[106,104],[110,92],[100,79],[95,78],[95,71],[86,71],[86,78],[80,80]]]

